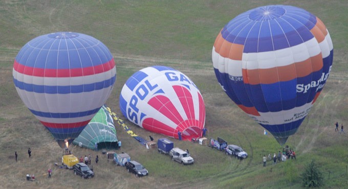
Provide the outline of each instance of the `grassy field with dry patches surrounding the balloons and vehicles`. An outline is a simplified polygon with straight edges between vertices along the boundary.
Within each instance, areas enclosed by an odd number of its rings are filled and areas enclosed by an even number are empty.
[[[297,159],[262,167],[262,157],[282,149],[271,135],[240,110],[215,79],[211,50],[223,26],[249,9],[286,4],[304,8],[327,26],[334,44],[330,78],[311,112],[287,145]],[[348,4],[346,1],[0,1],[0,188],[300,188],[299,175],[315,159],[324,176],[323,188],[346,188],[348,133],[337,134],[334,123],[348,119]],[[95,177],[82,180],[72,171],[59,169],[62,149],[25,107],[12,82],[15,56],[36,36],[74,31],[101,40],[117,64],[117,80],[106,104],[130,129],[144,138],[151,135],[127,122],[119,110],[119,93],[125,81],[139,69],[152,65],[171,66],[187,75],[200,89],[206,105],[208,137],[220,136],[240,145],[249,157],[243,161],[189,141],[175,146],[189,149],[192,166],[181,166],[169,156],[146,150],[122,127],[118,151],[141,162],[149,175],[136,178],[106,160],[101,152],[77,146],[76,156],[99,155],[93,164]],[[346,130],[348,132],[348,130]],[[27,154],[32,149],[32,157]],[[14,160],[14,152],[18,161]],[[47,169],[53,169],[47,179]],[[26,180],[35,174],[36,181]]]

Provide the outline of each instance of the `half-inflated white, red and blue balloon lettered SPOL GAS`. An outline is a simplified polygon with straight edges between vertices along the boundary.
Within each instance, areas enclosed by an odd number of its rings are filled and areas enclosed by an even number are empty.
[[[205,105],[197,86],[166,66],[146,67],[133,74],[120,95],[122,114],[151,132],[191,140],[200,137]]]

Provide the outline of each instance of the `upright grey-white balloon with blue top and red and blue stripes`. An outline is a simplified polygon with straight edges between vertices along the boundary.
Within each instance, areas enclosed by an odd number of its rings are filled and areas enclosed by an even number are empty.
[[[20,99],[64,148],[110,96],[113,56],[92,36],[57,32],[29,41],[13,64]]]

